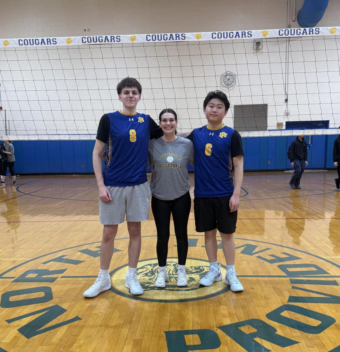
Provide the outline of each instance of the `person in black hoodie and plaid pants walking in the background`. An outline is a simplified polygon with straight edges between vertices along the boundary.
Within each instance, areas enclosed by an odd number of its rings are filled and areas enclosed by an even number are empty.
[[[300,189],[300,180],[307,162],[307,143],[303,136],[297,136],[290,144],[290,165],[294,168],[294,174],[289,181],[291,188]]]

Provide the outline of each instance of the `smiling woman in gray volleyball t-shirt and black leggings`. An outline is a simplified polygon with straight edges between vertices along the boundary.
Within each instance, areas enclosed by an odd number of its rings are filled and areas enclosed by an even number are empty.
[[[159,114],[163,136],[149,143],[151,208],[157,228],[158,276],[156,287],[165,287],[168,281],[166,258],[170,238],[170,216],[174,220],[178,254],[177,286],[188,284],[185,262],[188,254],[188,219],[191,208],[187,164],[194,164],[194,145],[186,138],[176,136],[177,114],[164,109]]]

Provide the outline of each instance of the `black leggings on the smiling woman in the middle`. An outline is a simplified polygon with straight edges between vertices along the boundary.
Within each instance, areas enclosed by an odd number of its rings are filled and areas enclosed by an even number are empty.
[[[151,197],[151,209],[157,228],[157,258],[158,265],[165,266],[168,257],[168,242],[170,238],[170,215],[174,220],[177,240],[178,264],[185,265],[188,254],[188,219],[191,208],[189,192],[174,200],[160,200]]]

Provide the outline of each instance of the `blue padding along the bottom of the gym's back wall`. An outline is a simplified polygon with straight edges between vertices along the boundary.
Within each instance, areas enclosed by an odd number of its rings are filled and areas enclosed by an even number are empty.
[[[312,136],[307,168],[334,168],[333,142],[336,137],[336,135]],[[295,138],[295,136],[242,138],[245,153],[244,169],[291,169],[287,151],[291,141]],[[305,136],[305,139],[308,143],[309,136]],[[15,150],[14,170],[18,174],[93,173],[94,141],[23,140],[14,141],[13,145]],[[193,166],[188,165],[188,170],[193,171]]]

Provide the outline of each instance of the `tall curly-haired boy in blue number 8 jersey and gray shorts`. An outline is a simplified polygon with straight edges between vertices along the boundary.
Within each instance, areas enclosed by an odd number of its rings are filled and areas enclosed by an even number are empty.
[[[108,274],[118,224],[127,221],[128,272],[125,285],[131,294],[143,294],[137,279],[141,246],[140,222],[149,218],[150,187],[146,178],[149,139],[163,134],[149,115],[136,112],[141,85],[126,77],[117,86],[123,108],[102,116],[93,150],[93,169],[99,188],[99,217],[104,225],[100,247],[100,272],[95,283],[84,292],[95,297],[111,288]],[[105,172],[101,155],[106,145]]]

